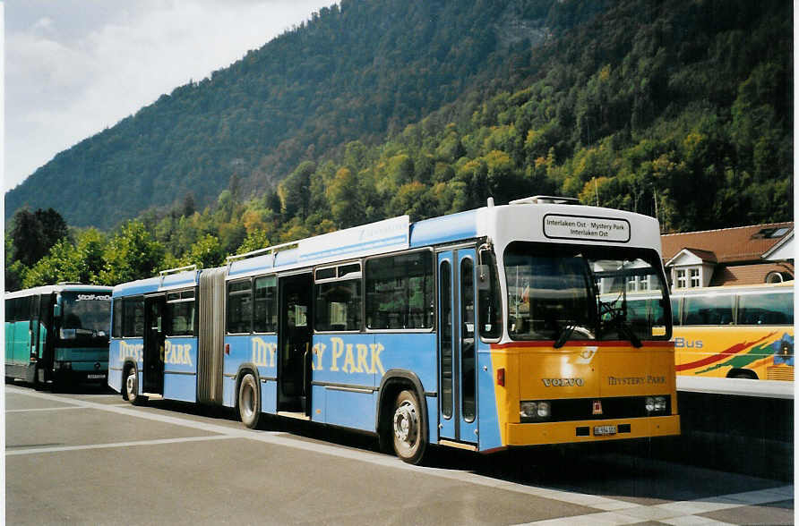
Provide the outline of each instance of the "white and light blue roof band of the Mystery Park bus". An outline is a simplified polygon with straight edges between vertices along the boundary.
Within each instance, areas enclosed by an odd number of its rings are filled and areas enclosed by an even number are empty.
[[[483,208],[416,223],[399,216],[323,233],[231,256],[228,279],[480,238],[494,242],[497,250],[504,250],[508,242],[528,241],[631,246],[660,253],[660,231],[654,217],[575,205],[572,200],[536,196],[494,206],[490,199]],[[158,292],[197,284],[197,276],[197,271],[192,271],[152,277],[117,285],[114,291],[115,295]]]

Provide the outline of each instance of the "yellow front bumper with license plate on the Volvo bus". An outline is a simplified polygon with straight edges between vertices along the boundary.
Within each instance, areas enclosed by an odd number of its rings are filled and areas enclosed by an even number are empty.
[[[545,445],[577,442],[598,442],[625,438],[666,437],[680,434],[680,416],[649,417],[617,420],[579,420],[570,422],[545,422],[540,424],[506,424],[506,445]],[[629,432],[618,432],[630,426]],[[614,435],[595,435],[596,428],[615,426]],[[585,435],[588,428],[588,435]],[[583,436],[580,436],[583,434]]]

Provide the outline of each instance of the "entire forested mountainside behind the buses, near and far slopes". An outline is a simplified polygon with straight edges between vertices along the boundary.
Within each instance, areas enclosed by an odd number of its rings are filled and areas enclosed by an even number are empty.
[[[792,20],[786,0],[344,1],[9,192],[9,215],[137,217],[14,272],[115,283],[489,196],[570,195],[665,232],[790,220]],[[122,252],[150,256],[121,271]]]

